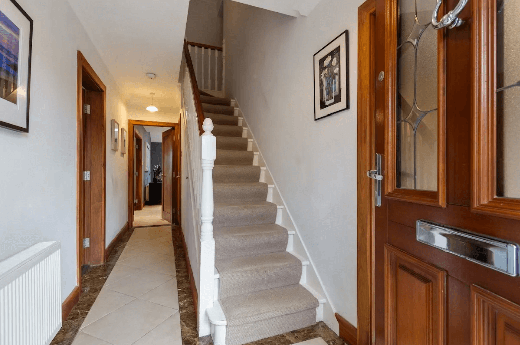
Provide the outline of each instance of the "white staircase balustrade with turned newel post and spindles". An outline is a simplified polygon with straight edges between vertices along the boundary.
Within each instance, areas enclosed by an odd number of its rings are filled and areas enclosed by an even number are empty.
[[[202,65],[203,66],[203,65]],[[199,118],[195,106],[192,84],[186,61],[181,66],[181,131],[186,136],[184,154],[187,155],[187,169],[191,176],[189,191],[192,194],[192,210],[194,217],[196,241],[199,245],[199,279],[198,279],[198,322],[199,336],[210,334],[211,325],[206,310],[214,303],[215,273],[215,240],[213,239],[213,165],[216,156],[216,138],[211,133],[213,123],[210,118],[204,119],[200,133]],[[201,114],[202,115],[202,114]],[[184,228],[183,224],[183,228]],[[189,231],[189,229],[183,229]],[[190,248],[188,248],[190,251]],[[193,264],[193,263],[192,263]]]

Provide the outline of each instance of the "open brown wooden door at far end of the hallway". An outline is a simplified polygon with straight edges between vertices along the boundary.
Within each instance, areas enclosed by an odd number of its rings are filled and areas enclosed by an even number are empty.
[[[164,220],[174,223],[175,208],[174,196],[176,197],[174,188],[175,166],[174,166],[174,149],[175,149],[175,131],[168,129],[163,132],[162,141],[163,151],[163,200],[162,200],[162,217]]]

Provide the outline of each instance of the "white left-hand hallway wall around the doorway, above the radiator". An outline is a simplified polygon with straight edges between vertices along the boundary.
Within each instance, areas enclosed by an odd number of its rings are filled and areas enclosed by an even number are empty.
[[[0,260],[61,242],[61,298],[76,285],[77,50],[107,86],[106,243],[127,221],[127,160],[110,149],[126,101],[66,0],[18,0],[34,20],[29,133],[0,128]],[[15,181],[12,181],[15,176]]]

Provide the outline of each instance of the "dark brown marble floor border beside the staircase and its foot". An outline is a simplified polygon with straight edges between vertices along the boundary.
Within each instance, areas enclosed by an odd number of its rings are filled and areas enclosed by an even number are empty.
[[[180,333],[183,345],[213,345],[210,336],[199,338],[197,319],[193,310],[188,270],[186,267],[186,253],[180,235],[180,228],[173,227],[173,251],[175,255],[175,276],[179,295]],[[316,325],[288,332],[276,337],[258,340],[246,345],[292,345],[315,338],[323,338],[329,345],[346,345],[339,336],[324,322]]]

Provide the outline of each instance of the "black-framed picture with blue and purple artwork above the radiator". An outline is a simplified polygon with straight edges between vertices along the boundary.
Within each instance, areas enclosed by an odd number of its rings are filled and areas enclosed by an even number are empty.
[[[0,0],[0,126],[29,132],[31,17],[15,0]]]

